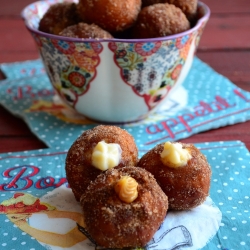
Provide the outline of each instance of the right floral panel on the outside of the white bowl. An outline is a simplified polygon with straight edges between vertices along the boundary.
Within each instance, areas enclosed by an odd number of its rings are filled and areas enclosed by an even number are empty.
[[[194,35],[147,43],[110,43],[123,81],[153,109],[180,75]]]

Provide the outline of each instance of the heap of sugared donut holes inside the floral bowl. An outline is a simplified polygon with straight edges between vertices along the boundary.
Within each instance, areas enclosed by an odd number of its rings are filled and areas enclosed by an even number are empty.
[[[86,39],[146,39],[193,26],[198,0],[79,0],[50,6],[38,30]]]

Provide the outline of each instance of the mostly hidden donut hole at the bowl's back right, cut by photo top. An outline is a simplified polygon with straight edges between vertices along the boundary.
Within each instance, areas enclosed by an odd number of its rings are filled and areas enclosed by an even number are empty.
[[[189,20],[192,20],[197,12],[198,0],[142,0],[142,7],[156,3],[169,3],[180,8]]]

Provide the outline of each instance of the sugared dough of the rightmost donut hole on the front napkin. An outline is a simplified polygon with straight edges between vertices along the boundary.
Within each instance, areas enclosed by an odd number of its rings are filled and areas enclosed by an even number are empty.
[[[182,143],[192,158],[183,167],[171,168],[161,161],[163,144],[146,153],[138,167],[152,173],[168,196],[169,209],[187,210],[202,204],[209,195],[211,168],[206,157],[193,145]]]

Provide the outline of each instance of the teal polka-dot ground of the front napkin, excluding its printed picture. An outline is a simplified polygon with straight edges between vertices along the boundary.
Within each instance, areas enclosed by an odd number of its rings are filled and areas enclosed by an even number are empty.
[[[219,230],[212,239],[208,239],[202,249],[249,249],[250,155],[248,150],[240,141],[195,145],[211,165],[210,198],[222,213]],[[60,185],[67,184],[64,170],[65,157],[66,151],[55,149],[1,154],[0,204],[13,197],[14,193],[28,193],[40,198],[53,189],[59,188]],[[29,234],[13,226],[6,215],[7,212],[0,211],[0,249],[53,249],[44,248]],[[165,220],[167,219],[168,217]],[[193,224],[199,225],[199,221],[194,220]],[[198,235],[200,233],[201,231],[197,231]],[[83,249],[94,250],[94,247],[90,245]]]

